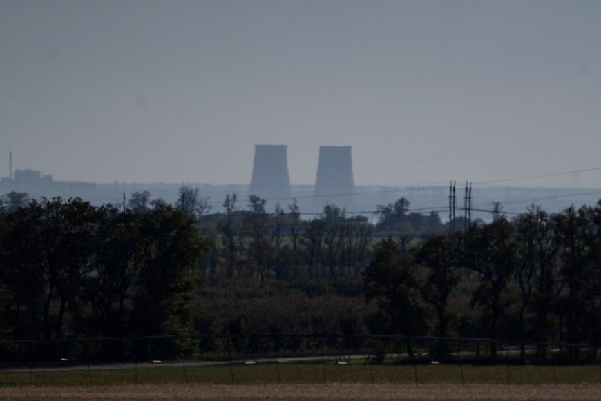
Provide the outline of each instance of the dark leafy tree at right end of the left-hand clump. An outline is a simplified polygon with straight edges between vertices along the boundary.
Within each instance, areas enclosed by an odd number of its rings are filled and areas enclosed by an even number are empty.
[[[211,242],[195,219],[171,206],[140,216],[142,267],[133,299],[137,335],[191,333],[191,300],[202,284],[199,264]]]

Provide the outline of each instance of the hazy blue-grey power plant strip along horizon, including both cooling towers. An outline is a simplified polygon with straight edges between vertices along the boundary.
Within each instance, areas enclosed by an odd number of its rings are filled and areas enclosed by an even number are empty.
[[[354,186],[352,168],[352,148],[350,146],[321,146],[319,148],[318,171],[315,185],[290,183],[287,166],[287,146],[285,145],[256,145],[254,155],[254,170],[252,182],[249,184],[187,184],[198,188],[200,196],[210,197],[220,202],[226,195],[236,194],[243,204],[247,195],[254,194],[267,199],[266,210],[274,211],[276,202],[287,210],[293,198],[298,201],[300,211],[309,217],[323,213],[326,204],[335,204],[353,213],[373,211],[378,205],[394,203],[402,195],[410,199],[411,205],[417,208],[437,210],[440,200],[446,199],[448,187],[434,186],[431,188],[417,186]],[[178,192],[181,183],[142,183],[142,182],[112,182],[93,183],[78,181],[55,180],[52,175],[39,170],[15,168],[15,155],[9,152],[7,157],[0,155],[0,166],[6,166],[5,177],[0,177],[0,197],[11,193],[27,193],[30,199],[45,197],[62,197],[69,199],[81,197],[94,206],[105,204],[120,205],[123,195],[130,196],[134,192],[149,190],[155,199],[165,202],[178,202]],[[5,164],[5,160],[6,163]],[[19,164],[17,163],[17,167]],[[294,182],[294,177],[292,177]],[[580,190],[581,191],[581,190]],[[515,208],[530,206],[524,199],[559,199],[549,200],[542,204],[551,211],[562,211],[567,204],[595,204],[598,196],[595,192],[588,195],[579,193],[576,188],[479,188],[478,198],[482,203],[506,199]],[[350,195],[354,194],[354,195]],[[565,197],[564,197],[565,196]],[[569,199],[566,201],[565,199]],[[242,205],[242,207],[244,207]],[[216,209],[220,211],[220,209]],[[488,219],[489,213],[481,212],[478,218]],[[305,217],[303,217],[305,218]]]

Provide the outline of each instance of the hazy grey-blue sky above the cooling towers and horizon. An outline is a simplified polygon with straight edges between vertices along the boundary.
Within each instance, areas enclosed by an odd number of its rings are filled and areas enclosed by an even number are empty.
[[[601,167],[601,1],[0,1],[0,176],[356,184]],[[601,170],[508,181],[601,187]]]

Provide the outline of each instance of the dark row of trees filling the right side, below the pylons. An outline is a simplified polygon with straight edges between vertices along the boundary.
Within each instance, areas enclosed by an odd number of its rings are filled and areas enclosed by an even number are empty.
[[[410,248],[385,239],[364,284],[394,333],[599,344],[601,201],[531,206]]]

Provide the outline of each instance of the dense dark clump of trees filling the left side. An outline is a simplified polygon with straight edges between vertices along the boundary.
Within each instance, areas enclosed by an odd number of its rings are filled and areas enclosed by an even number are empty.
[[[1,336],[191,332],[198,266],[211,246],[172,206],[32,200],[1,214]]]

